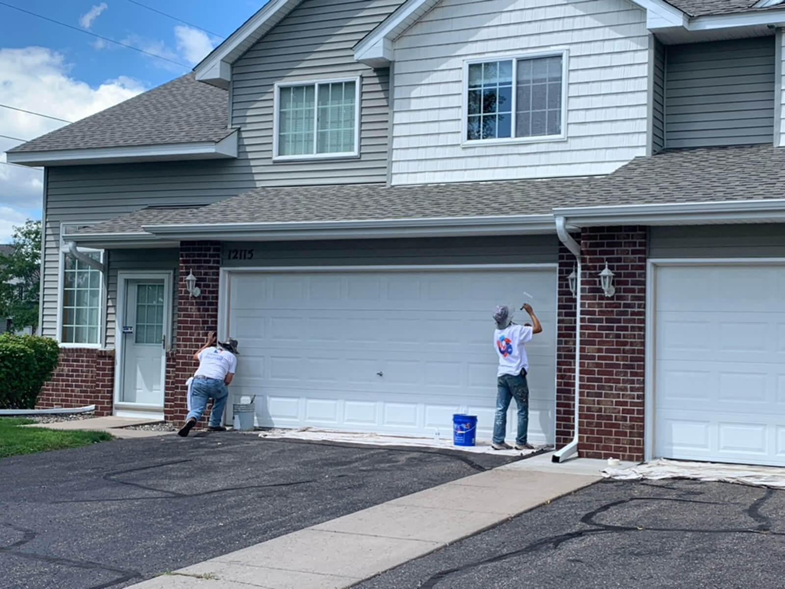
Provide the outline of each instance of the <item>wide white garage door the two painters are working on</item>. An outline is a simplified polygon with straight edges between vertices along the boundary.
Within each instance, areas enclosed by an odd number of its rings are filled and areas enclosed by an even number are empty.
[[[228,330],[241,352],[232,393],[257,395],[259,425],[443,437],[457,412],[477,415],[478,437],[491,437],[491,313],[520,306],[527,291],[545,330],[527,346],[530,439],[553,442],[555,269],[228,276]]]

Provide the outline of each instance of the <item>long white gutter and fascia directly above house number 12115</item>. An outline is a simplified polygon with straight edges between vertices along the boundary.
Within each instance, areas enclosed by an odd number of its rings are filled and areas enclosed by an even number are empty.
[[[382,237],[436,237],[555,233],[551,214],[506,217],[293,221],[210,225],[144,225],[144,231],[177,240],[281,241]]]

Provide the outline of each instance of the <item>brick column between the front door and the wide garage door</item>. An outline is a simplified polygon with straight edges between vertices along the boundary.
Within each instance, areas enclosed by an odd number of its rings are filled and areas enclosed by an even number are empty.
[[[185,277],[196,276],[201,289],[199,298],[188,294]],[[181,422],[187,414],[185,381],[194,374],[197,364],[193,353],[203,346],[208,331],[218,324],[218,278],[221,273],[221,243],[184,241],[180,244],[180,268],[177,283],[177,334],[173,349],[166,356],[167,421]],[[210,417],[206,412],[202,423]]]

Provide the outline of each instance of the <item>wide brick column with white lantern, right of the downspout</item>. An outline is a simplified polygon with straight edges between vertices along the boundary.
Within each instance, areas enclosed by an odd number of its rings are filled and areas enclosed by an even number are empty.
[[[579,452],[641,460],[644,452],[646,229],[584,229]],[[606,297],[605,262],[616,292]]]

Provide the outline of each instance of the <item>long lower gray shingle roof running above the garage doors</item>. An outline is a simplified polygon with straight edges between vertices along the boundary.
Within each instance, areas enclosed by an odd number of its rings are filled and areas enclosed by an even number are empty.
[[[780,199],[785,148],[743,145],[641,157],[608,176],[546,180],[256,188],[205,207],[148,208],[79,233],[149,225],[456,218],[550,214],[560,207]]]

